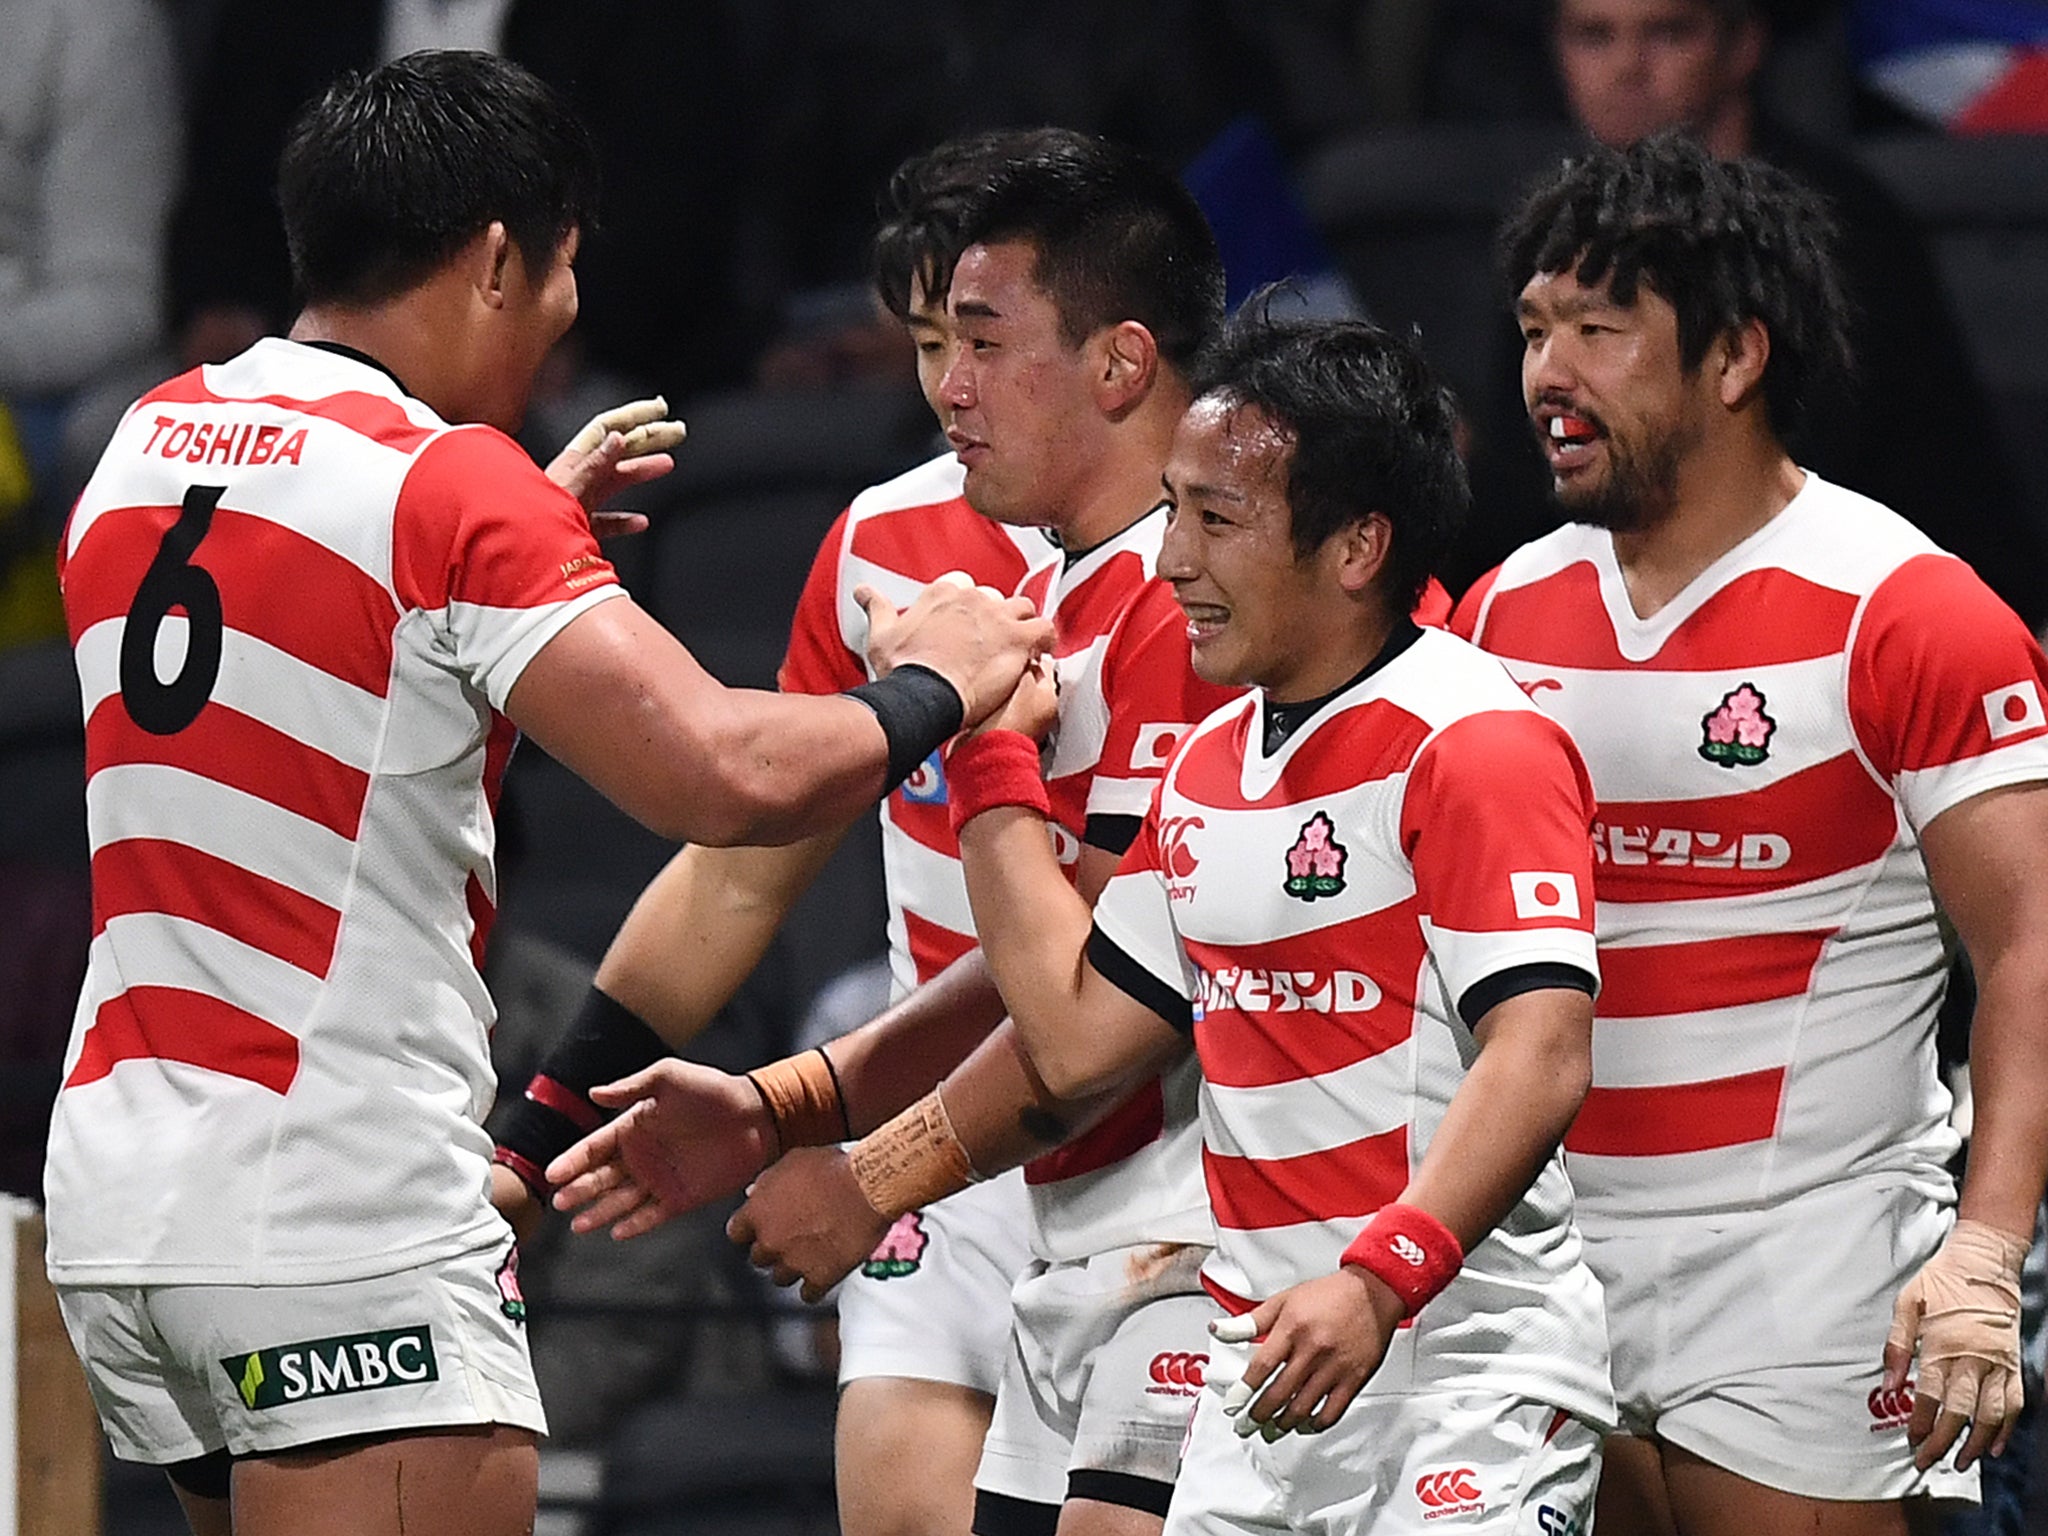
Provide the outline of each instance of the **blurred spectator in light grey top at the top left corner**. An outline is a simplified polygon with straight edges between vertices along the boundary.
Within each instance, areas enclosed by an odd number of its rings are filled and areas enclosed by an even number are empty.
[[[113,426],[96,393],[158,340],[178,111],[156,0],[0,0],[0,412],[20,555],[55,537],[86,418]],[[74,457],[84,469],[96,451]]]

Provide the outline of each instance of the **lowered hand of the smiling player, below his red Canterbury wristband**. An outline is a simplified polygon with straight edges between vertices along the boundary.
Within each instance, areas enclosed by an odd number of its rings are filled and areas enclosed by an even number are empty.
[[[1210,1323],[1225,1343],[1257,1339],[1245,1374],[1225,1384],[1223,1411],[1239,1436],[1268,1442],[1288,1430],[1329,1430],[1380,1368],[1401,1317],[1401,1298],[1386,1282],[1348,1264]],[[1210,1384],[1221,1384],[1210,1362]]]

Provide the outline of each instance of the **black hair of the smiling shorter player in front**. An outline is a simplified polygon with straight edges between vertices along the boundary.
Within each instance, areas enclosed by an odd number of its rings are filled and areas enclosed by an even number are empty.
[[[1393,524],[1382,584],[1407,612],[1470,500],[1458,408],[1411,336],[1278,317],[1272,293],[1245,299],[1196,365],[1194,389],[1255,406],[1292,442],[1286,500],[1300,559],[1372,512]]]

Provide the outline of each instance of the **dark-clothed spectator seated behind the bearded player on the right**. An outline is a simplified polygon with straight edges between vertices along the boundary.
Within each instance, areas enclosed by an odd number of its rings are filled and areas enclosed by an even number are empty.
[[[1864,492],[1962,555],[2030,627],[2048,616],[2048,547],[2023,504],[1923,233],[1853,160],[1759,115],[1769,29],[1755,0],[1552,0],[1550,45],[1575,121],[1622,147],[1686,127],[1720,158],[1757,156],[1821,190],[1841,225],[1853,387],[1817,401],[1800,463]],[[1505,336],[1503,336],[1505,340]],[[1481,420],[1475,518],[1458,578],[1556,524],[1546,475],[1499,369]]]

